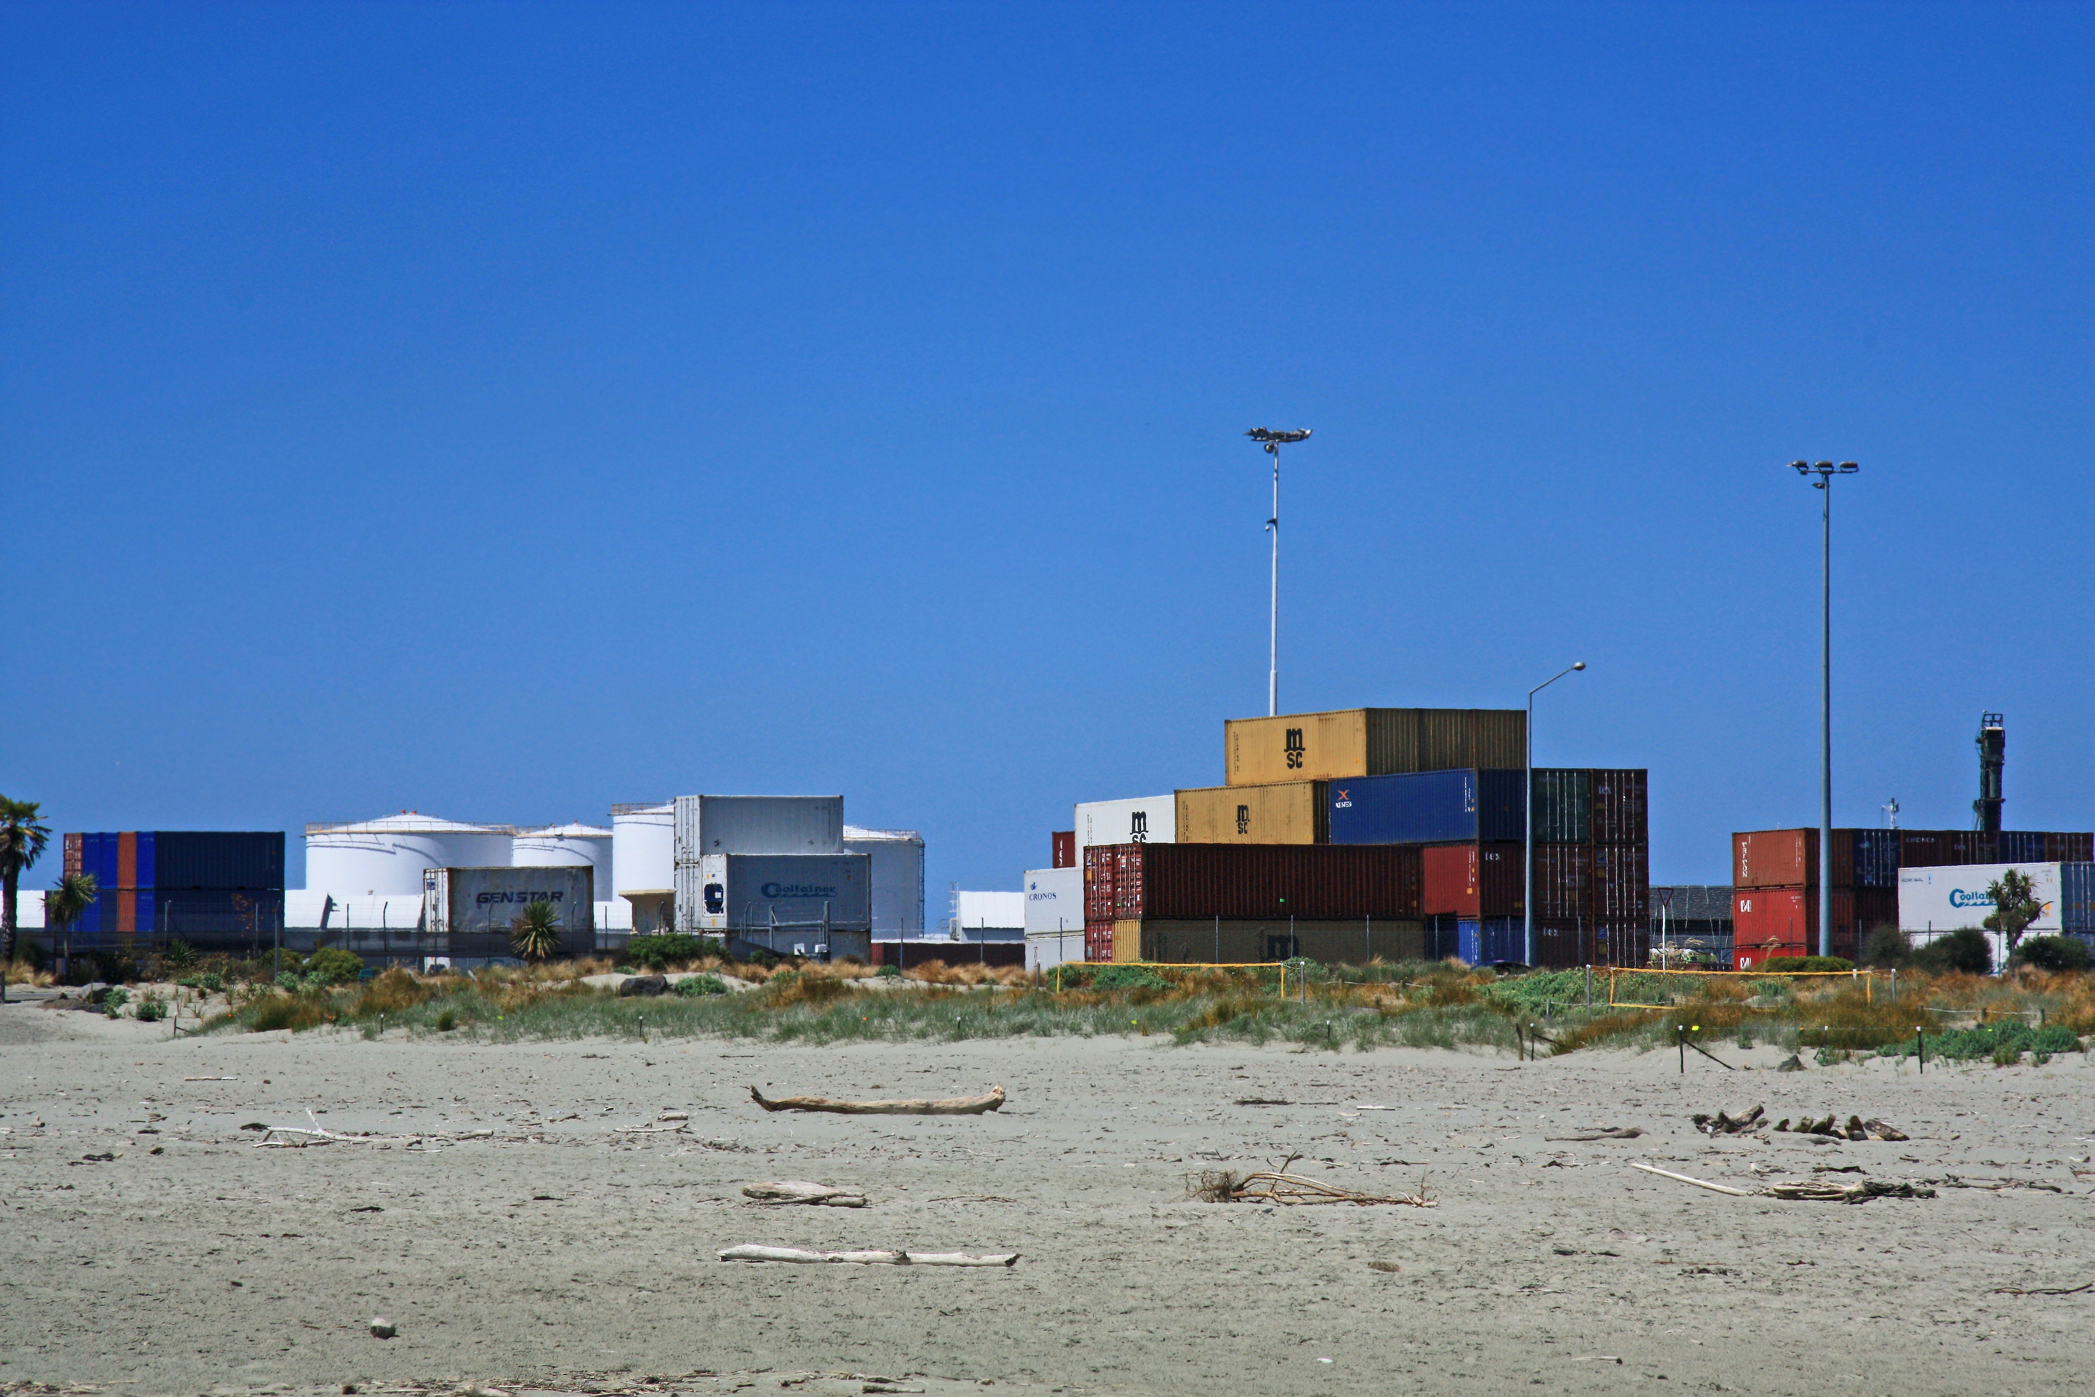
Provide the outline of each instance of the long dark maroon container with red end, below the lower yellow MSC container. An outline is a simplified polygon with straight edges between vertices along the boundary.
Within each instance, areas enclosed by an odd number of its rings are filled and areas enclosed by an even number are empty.
[[[1085,922],[1418,917],[1406,844],[1117,844],[1085,850]]]

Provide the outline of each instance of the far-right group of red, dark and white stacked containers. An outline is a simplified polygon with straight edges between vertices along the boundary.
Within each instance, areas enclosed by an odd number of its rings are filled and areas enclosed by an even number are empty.
[[[1730,836],[1733,966],[1818,953],[1818,829]],[[1833,955],[1856,959],[1877,928],[1921,940],[1984,930],[1988,886],[2009,869],[2045,913],[2032,934],[2095,936],[2095,834],[2061,829],[1833,829]],[[1997,947],[1994,959],[2005,947]]]

